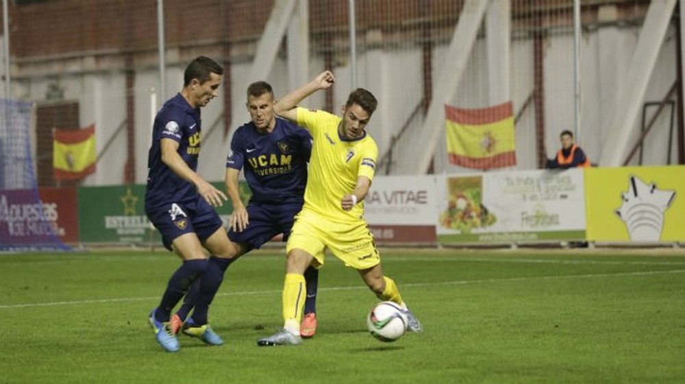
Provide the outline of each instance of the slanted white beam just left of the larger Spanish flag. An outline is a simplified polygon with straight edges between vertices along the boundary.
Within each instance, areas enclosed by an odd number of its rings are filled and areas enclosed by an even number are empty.
[[[421,127],[425,136],[422,136],[421,142],[415,143],[414,146],[414,148],[421,148],[422,154],[410,169],[412,174],[424,174],[430,165],[438,142],[444,142],[445,103],[453,99],[456,93],[488,3],[489,1],[484,0],[466,0],[463,5],[440,74],[433,82],[436,87],[423,127]]]

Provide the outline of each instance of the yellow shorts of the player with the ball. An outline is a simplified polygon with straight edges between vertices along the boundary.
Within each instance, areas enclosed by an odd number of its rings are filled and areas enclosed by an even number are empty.
[[[314,256],[315,266],[323,266],[325,249],[328,248],[345,265],[358,270],[371,268],[380,263],[380,256],[373,242],[373,235],[364,220],[340,223],[327,220],[313,213],[302,211],[295,216],[286,252],[301,249]],[[318,265],[316,265],[318,264]]]

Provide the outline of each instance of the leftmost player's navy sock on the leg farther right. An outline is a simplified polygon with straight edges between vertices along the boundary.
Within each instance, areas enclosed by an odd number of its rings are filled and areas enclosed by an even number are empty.
[[[189,305],[195,305],[192,311],[192,322],[197,325],[207,324],[210,304],[223,282],[223,274],[234,259],[223,259],[212,256],[207,264],[207,271],[197,281],[197,295],[189,298]],[[179,315],[180,316],[180,315]]]

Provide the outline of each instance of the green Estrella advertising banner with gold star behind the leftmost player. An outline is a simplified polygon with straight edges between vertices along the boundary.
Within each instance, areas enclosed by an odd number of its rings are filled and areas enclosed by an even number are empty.
[[[223,183],[212,183],[225,191]],[[240,183],[240,197],[247,205],[251,192]],[[81,187],[77,191],[79,240],[81,242],[140,244],[161,242],[145,215],[145,185]],[[230,201],[216,209],[226,224],[233,212]]]

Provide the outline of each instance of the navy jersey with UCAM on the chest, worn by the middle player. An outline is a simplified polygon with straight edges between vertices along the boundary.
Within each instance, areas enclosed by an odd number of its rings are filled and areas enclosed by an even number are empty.
[[[307,185],[312,136],[288,120],[276,118],[271,133],[254,123],[242,125],[231,140],[226,167],[243,169],[256,203],[301,203]]]

